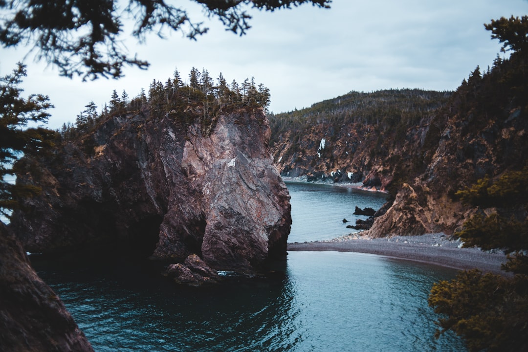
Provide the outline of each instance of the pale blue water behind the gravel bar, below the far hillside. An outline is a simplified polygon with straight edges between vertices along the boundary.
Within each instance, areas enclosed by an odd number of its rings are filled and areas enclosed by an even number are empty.
[[[291,232],[289,242],[329,240],[357,232],[347,229],[363,215],[354,215],[355,207],[378,210],[387,195],[350,187],[327,184],[287,182],[291,195]],[[348,223],[343,223],[343,219]]]

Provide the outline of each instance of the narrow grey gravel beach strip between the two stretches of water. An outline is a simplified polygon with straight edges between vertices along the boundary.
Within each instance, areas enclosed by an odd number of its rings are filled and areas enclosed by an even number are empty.
[[[371,239],[358,234],[330,241],[288,243],[288,251],[340,251],[371,253],[391,258],[442,265],[455,269],[480,269],[504,274],[501,264],[506,255],[484,252],[476,248],[461,248],[461,242],[450,241],[443,234],[396,236]]]

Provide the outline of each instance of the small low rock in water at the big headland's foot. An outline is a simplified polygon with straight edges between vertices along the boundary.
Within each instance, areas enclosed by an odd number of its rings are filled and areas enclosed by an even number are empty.
[[[202,286],[203,284],[218,283],[220,275],[211,269],[196,254],[189,255],[185,262],[169,265],[163,275],[171,277],[175,282],[187,286]]]

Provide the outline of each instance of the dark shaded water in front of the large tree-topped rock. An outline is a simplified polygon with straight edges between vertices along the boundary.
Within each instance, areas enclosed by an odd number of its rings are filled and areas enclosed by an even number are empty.
[[[145,262],[33,262],[96,351],[291,351],[302,338],[284,271],[197,289]]]

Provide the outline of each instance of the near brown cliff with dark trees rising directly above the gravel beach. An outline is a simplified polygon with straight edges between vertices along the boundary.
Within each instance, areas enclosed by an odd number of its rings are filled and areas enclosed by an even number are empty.
[[[371,235],[454,234],[476,212],[461,204],[457,191],[527,165],[525,61],[514,55],[484,75],[477,68],[464,80],[419,144],[421,159],[416,153],[415,158],[425,167],[407,175],[408,184],[398,187],[394,204],[376,218]]]

